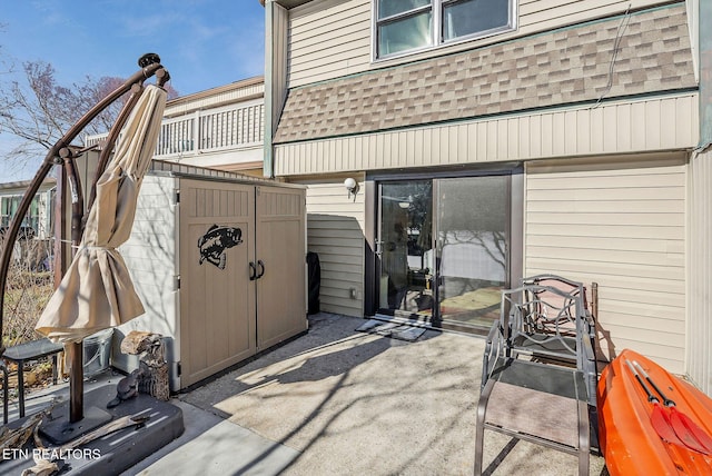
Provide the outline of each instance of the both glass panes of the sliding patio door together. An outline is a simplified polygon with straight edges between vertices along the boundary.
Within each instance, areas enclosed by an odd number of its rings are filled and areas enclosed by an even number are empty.
[[[380,314],[487,329],[507,286],[510,176],[380,182]]]

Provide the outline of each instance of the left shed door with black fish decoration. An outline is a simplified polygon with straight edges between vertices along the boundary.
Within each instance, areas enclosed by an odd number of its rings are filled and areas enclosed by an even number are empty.
[[[254,214],[254,186],[180,182],[181,387],[256,351]]]

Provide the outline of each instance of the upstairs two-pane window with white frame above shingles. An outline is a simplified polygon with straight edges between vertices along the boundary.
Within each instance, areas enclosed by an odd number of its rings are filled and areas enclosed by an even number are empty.
[[[515,28],[515,0],[375,0],[375,57],[388,58]]]

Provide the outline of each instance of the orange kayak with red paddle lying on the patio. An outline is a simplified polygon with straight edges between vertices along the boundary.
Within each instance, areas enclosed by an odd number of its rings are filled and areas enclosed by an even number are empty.
[[[611,475],[712,474],[712,399],[689,383],[625,349],[601,374],[596,397]]]

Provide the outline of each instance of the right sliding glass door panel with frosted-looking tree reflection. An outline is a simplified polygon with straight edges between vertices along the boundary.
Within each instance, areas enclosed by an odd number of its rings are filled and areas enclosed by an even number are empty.
[[[510,177],[437,180],[437,301],[443,324],[488,328],[507,282]]]

